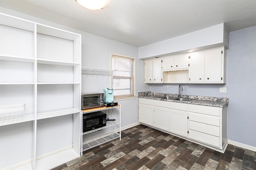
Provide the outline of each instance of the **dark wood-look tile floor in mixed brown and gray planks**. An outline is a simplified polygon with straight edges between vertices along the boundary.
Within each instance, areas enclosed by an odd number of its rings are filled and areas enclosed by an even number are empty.
[[[256,152],[228,145],[224,153],[137,125],[52,170],[256,170]]]

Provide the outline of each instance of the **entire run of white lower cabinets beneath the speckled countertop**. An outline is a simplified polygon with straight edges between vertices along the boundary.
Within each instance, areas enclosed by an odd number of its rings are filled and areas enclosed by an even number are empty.
[[[212,107],[139,98],[139,121],[205,147],[227,147],[226,106]]]

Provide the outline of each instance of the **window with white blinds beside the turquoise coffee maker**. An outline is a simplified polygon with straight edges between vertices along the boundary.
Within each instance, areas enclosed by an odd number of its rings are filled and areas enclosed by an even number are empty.
[[[114,98],[133,97],[135,93],[134,63],[132,57],[112,55]]]

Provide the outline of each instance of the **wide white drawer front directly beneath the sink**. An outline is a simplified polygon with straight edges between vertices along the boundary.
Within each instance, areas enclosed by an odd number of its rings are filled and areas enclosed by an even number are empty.
[[[178,102],[167,102],[167,101],[156,100],[155,106],[188,111],[188,104],[178,103]]]

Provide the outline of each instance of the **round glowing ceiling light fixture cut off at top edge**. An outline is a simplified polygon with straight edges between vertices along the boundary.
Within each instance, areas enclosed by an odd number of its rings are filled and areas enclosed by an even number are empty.
[[[78,4],[90,10],[100,10],[107,4],[107,0],[75,0]]]

